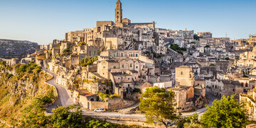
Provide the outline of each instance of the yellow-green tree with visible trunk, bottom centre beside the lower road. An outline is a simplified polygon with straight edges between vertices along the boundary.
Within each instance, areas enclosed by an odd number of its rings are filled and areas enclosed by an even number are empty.
[[[167,127],[168,120],[176,120],[178,113],[174,100],[175,93],[165,88],[146,88],[139,109],[145,112],[146,123],[161,122]]]

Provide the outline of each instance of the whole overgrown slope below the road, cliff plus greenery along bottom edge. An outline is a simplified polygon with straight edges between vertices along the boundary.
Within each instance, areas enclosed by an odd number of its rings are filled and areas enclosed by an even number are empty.
[[[138,127],[85,119],[77,106],[57,107],[47,114],[43,105],[56,98],[54,88],[44,83],[51,76],[33,62],[13,67],[0,62],[0,73],[0,127]]]

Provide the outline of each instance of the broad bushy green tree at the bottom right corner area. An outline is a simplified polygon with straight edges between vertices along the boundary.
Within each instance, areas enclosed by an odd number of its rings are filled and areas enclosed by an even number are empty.
[[[207,106],[206,112],[201,116],[201,121],[207,127],[242,127],[246,122],[247,114],[245,105],[235,100],[235,95],[214,100],[213,106]]]

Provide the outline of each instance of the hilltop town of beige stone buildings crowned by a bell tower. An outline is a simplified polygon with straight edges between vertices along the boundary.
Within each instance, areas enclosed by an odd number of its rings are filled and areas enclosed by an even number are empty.
[[[9,66],[36,62],[55,78],[60,105],[86,112],[136,112],[146,88],[174,91],[178,112],[204,112],[223,95],[245,101],[256,115],[256,35],[230,40],[214,33],[156,28],[156,22],[132,23],[117,1],[114,21],[63,33],[65,40],[41,45],[22,59],[1,59]],[[49,109],[53,109],[49,107]]]

